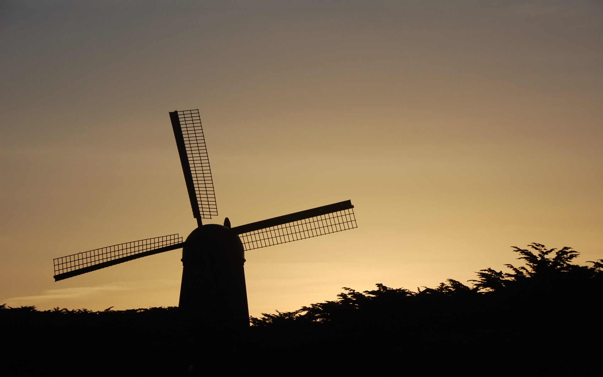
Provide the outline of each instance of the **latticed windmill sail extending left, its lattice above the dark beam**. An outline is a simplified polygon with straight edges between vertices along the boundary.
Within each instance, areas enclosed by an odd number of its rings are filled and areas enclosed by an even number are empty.
[[[143,256],[159,254],[169,250],[180,249],[184,246],[182,237],[177,234],[168,236],[140,239],[126,242],[89,252],[77,253],[53,259],[54,281],[85,274],[90,271],[142,258]]]

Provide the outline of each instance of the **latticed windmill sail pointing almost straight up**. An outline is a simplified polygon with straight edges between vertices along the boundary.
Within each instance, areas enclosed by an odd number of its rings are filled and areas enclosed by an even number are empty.
[[[217,216],[218,208],[199,110],[171,112],[169,118],[185,174],[192,214],[201,226],[201,219]]]

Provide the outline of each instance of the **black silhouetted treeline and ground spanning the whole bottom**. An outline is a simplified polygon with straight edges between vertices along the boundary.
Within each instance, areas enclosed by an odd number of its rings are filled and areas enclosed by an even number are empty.
[[[481,270],[410,291],[377,284],[250,318],[250,334],[191,330],[178,308],[114,311],[0,306],[11,369],[40,372],[302,374],[587,372],[600,367],[603,260],[570,247],[513,248],[510,272]],[[211,327],[212,324],[207,324]]]

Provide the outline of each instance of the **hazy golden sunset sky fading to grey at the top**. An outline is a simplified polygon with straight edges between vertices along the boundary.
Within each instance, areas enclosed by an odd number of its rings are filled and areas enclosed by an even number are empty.
[[[232,226],[352,200],[246,253],[250,314],[435,287],[539,242],[603,258],[601,1],[0,2],[0,303],[174,306],[195,228],[168,112],[199,109]],[[467,283],[469,284],[469,283]]]

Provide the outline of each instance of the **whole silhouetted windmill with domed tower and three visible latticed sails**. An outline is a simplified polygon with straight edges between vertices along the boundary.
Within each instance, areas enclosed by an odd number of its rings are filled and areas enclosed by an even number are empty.
[[[350,200],[231,227],[203,225],[218,215],[199,110],[169,113],[197,228],[185,241],[178,234],[140,239],[54,259],[54,280],[63,280],[144,256],[182,250],[180,310],[200,322],[227,328],[249,326],[245,252],[260,247],[356,227]]]

